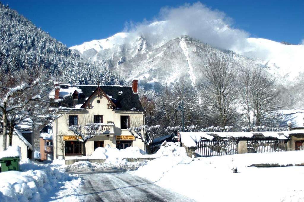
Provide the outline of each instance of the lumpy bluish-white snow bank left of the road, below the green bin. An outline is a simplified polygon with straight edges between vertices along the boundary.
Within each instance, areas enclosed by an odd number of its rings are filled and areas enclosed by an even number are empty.
[[[1,152],[3,153],[3,152]],[[31,161],[21,162],[21,171],[0,173],[0,201],[46,201],[56,197],[78,201],[77,187],[83,184],[77,175]]]

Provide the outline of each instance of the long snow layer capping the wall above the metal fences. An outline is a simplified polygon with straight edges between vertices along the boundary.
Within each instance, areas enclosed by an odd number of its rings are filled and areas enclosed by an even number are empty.
[[[222,138],[253,138],[254,135],[263,135],[265,138],[288,139],[292,134],[304,134],[304,130],[282,132],[180,132],[181,142],[187,147],[195,147],[201,140],[213,140],[214,136]]]

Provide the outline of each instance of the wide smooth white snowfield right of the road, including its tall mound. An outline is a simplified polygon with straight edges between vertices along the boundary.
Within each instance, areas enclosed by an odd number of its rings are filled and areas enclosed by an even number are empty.
[[[169,143],[158,152],[133,173],[197,201],[304,201],[303,167],[247,167],[304,163],[304,151],[190,158]]]

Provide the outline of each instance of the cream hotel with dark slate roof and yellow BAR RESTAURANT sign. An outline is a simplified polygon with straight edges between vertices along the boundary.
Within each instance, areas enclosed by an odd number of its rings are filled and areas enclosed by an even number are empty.
[[[98,125],[95,137],[85,144],[86,155],[110,145],[118,149],[138,146],[140,139],[128,131],[130,122],[143,125],[145,111],[137,94],[137,80],[132,86],[60,85],[50,94],[60,118],[53,122],[54,158],[82,156],[83,146],[69,126]]]

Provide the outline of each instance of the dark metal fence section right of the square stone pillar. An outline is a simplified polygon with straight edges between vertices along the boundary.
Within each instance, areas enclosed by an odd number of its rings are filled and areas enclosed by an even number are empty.
[[[248,153],[285,152],[286,140],[247,140]]]

